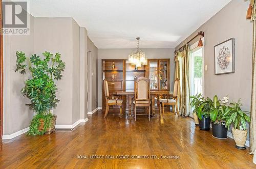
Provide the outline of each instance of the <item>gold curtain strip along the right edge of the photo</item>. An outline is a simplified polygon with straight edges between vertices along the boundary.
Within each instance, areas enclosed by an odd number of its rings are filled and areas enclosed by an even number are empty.
[[[251,91],[251,122],[250,122],[250,153],[253,154],[256,148],[256,3],[251,0],[253,21],[252,39],[252,91]]]

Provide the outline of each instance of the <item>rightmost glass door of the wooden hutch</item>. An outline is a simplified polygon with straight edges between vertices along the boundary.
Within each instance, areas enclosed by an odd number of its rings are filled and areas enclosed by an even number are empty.
[[[168,89],[168,62],[159,61],[159,89]]]

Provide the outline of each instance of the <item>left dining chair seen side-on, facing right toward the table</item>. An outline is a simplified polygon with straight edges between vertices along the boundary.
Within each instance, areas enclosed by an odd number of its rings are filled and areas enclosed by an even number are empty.
[[[105,102],[106,102],[106,109],[105,109],[105,115],[108,115],[109,109],[111,105],[119,105],[120,106],[120,118],[122,118],[122,106],[123,106],[123,100],[119,99],[119,96],[117,95],[110,95],[109,94],[109,83],[108,81],[103,81],[104,85],[104,95],[105,95]]]

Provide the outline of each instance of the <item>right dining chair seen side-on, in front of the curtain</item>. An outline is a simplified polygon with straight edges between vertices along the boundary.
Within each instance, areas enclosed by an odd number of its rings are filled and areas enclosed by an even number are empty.
[[[179,114],[179,108],[178,108],[178,89],[179,89],[179,82],[180,80],[178,78],[175,79],[174,82],[174,91],[172,95],[164,95],[162,99],[159,99],[160,102],[160,108],[159,108],[159,115],[161,116],[161,108],[163,111],[164,116],[164,106],[165,105],[171,105],[173,108],[173,112],[175,112],[174,107],[176,107],[175,115],[178,116]]]

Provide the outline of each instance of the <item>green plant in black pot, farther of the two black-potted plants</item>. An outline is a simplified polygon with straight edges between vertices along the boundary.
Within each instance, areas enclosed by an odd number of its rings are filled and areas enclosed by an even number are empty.
[[[197,116],[199,119],[200,130],[210,129],[210,107],[213,102],[210,98],[204,99],[200,106],[197,108]]]

